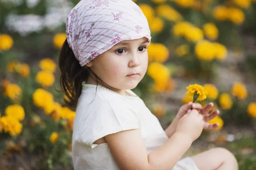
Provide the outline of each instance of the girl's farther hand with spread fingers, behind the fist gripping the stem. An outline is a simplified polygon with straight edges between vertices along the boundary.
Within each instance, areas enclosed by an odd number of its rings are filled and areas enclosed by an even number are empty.
[[[215,118],[220,112],[217,110],[217,111],[213,111],[212,113],[209,113],[209,111],[212,109],[212,107],[213,107],[212,102],[208,103],[204,108],[202,108],[202,105],[199,103],[189,102],[188,104],[181,106],[176,117],[177,117],[177,119],[181,119],[186,113],[188,113],[192,109],[196,109],[204,117],[204,129],[215,129],[216,127],[219,126],[218,123],[209,124],[207,122],[209,120]]]

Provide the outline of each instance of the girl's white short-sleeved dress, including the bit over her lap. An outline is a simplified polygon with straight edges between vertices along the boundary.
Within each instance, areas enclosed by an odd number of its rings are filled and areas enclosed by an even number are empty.
[[[96,92],[96,93],[95,93]],[[168,137],[145,103],[133,91],[122,95],[108,88],[83,83],[73,126],[72,156],[75,170],[119,170],[107,143],[93,144],[108,134],[140,129],[147,153]],[[198,170],[189,157],[173,170]]]

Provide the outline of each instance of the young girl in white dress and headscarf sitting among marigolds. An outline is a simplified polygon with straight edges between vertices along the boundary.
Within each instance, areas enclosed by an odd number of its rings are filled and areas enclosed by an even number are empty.
[[[75,170],[237,170],[235,157],[215,148],[181,159],[206,122],[218,115],[183,105],[166,130],[131,89],[143,79],[151,41],[148,22],[131,0],[81,0],[67,18],[61,88],[76,108]],[[181,159],[181,160],[180,160]]]

